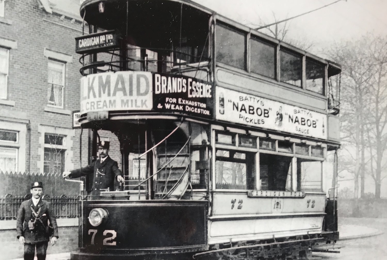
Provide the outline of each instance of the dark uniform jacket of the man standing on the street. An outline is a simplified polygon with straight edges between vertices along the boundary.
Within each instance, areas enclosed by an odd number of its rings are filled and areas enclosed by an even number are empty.
[[[35,217],[33,215],[32,209],[39,214]],[[39,210],[40,209],[40,210]],[[43,222],[40,222],[39,219]],[[28,222],[34,222],[34,227],[30,229],[28,227]],[[39,199],[39,202],[34,206],[32,199],[28,201],[23,201],[17,212],[16,220],[16,234],[19,239],[20,236],[24,236],[25,243],[27,244],[36,244],[40,242],[50,241],[50,236],[46,233],[45,227],[48,226],[48,221],[54,229],[53,236],[58,236],[58,225],[55,215],[51,211],[50,202],[43,199]]]

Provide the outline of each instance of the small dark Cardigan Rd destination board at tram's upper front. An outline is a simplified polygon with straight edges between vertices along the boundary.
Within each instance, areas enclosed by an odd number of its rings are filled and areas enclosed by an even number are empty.
[[[106,48],[118,47],[120,35],[112,30],[98,32],[75,38],[75,52],[82,54],[90,51],[101,51]]]

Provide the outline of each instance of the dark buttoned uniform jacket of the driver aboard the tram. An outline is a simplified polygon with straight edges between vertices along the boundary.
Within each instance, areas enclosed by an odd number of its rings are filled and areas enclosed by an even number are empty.
[[[91,165],[70,171],[70,178],[78,178],[84,175],[94,173],[93,187],[89,195],[99,195],[100,189],[114,190],[114,182],[118,175],[122,176],[121,170],[118,168],[118,163],[111,159],[110,156],[101,163],[96,160]]]

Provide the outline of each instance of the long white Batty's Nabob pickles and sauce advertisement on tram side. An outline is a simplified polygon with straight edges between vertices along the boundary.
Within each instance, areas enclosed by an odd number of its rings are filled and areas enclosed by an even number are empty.
[[[327,139],[327,115],[216,87],[216,119]]]

